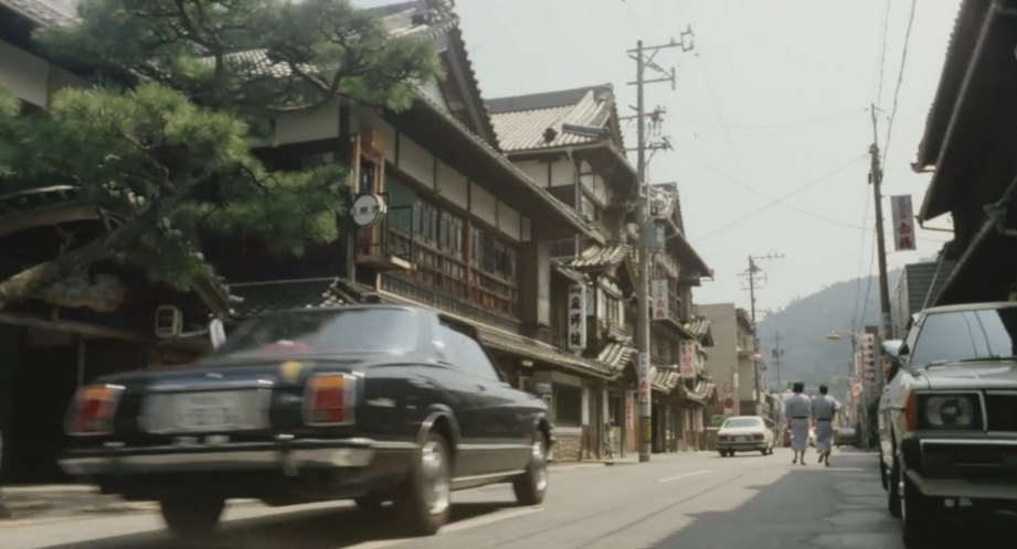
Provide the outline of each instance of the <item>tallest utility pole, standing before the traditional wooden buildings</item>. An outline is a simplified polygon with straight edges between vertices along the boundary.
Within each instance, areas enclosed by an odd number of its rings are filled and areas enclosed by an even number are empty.
[[[686,37],[692,36],[692,29],[681,33],[681,40],[657,46],[644,46],[643,41],[636,42],[636,49],[629,50],[628,54],[636,61],[636,80],[629,83],[636,86],[636,159],[638,173],[638,200],[636,201],[636,220],[639,226],[639,241],[636,243],[638,252],[638,276],[637,276],[637,313],[636,313],[636,348],[639,352],[638,386],[639,386],[639,461],[649,461],[653,451],[653,403],[650,401],[649,386],[649,252],[646,248],[647,239],[655,232],[649,223],[649,189],[646,181],[646,106],[643,97],[643,88],[647,84],[670,82],[671,89],[676,84],[676,71],[667,71],[654,62],[654,57],[663,50],[680,47],[682,52],[692,50],[691,40],[686,45]],[[659,78],[646,79],[646,67],[660,75]]]

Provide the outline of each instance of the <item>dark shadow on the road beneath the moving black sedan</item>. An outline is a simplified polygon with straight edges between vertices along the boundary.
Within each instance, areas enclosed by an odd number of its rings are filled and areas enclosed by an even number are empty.
[[[452,508],[449,526],[497,510],[515,507],[515,503],[466,503]],[[353,507],[282,512],[261,518],[232,520],[208,545],[210,549],[331,549],[349,547],[366,541],[384,541],[404,538],[396,523],[394,509],[385,507],[373,514]],[[116,536],[85,543],[49,546],[45,549],[190,549],[167,532],[146,532]]]

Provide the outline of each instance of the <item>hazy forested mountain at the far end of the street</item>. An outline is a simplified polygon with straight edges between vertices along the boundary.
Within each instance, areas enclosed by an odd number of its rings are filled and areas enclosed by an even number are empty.
[[[889,273],[891,299],[901,270]],[[868,301],[866,301],[866,288]],[[860,288],[860,290],[859,290]],[[858,301],[856,313],[856,300]],[[862,320],[862,312],[865,317]],[[855,326],[852,316],[857,315]],[[865,325],[879,324],[879,279],[866,277],[835,283],[812,295],[794,300],[781,311],[767,314],[760,322],[760,349],[767,363],[770,387],[777,387],[777,362],[773,357],[775,336],[781,336],[783,355],[780,360],[782,385],[805,381],[808,392],[819,384],[843,395],[851,360],[851,338],[830,341],[833,330],[862,332]]]

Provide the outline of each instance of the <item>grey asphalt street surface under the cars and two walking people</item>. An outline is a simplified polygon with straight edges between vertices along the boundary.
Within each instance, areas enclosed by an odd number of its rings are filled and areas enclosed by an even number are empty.
[[[454,494],[453,521],[431,538],[400,538],[381,514],[349,504],[227,510],[216,548],[902,548],[886,512],[876,458],[836,452],[830,467],[792,465],[791,454],[654,456],[646,464],[552,472],[540,507],[518,507],[511,488]],[[1017,519],[954,517],[943,547],[1014,547]],[[8,523],[0,548],[173,548],[151,513]]]

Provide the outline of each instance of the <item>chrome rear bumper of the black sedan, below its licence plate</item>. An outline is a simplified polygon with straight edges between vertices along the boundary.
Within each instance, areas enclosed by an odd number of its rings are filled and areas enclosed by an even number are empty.
[[[191,446],[117,446],[68,451],[61,466],[76,476],[127,476],[153,473],[279,471],[367,467],[378,461],[409,458],[409,442],[370,439],[289,440]]]

